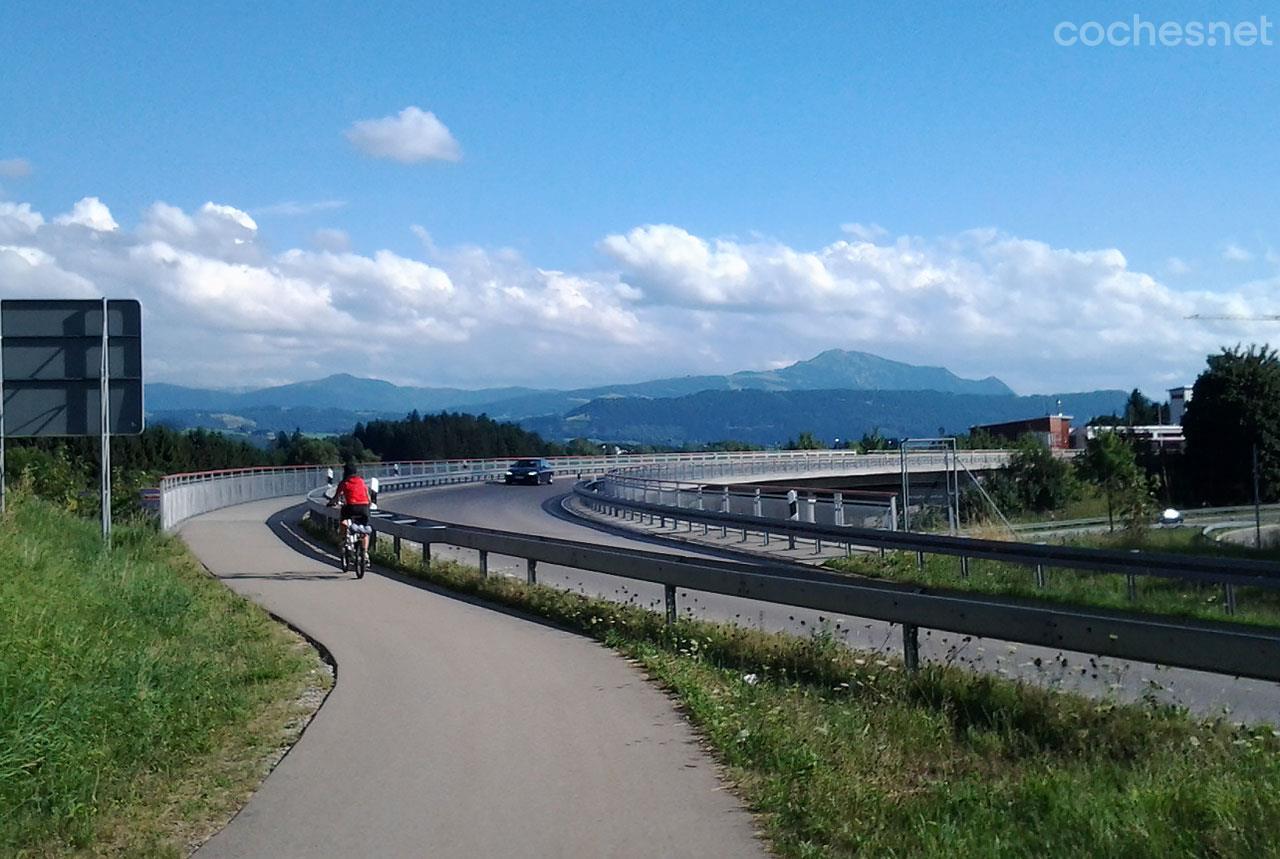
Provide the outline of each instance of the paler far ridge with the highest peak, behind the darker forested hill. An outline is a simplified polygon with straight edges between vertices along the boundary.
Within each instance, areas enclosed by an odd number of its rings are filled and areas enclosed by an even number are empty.
[[[369,417],[403,417],[422,413],[467,411],[503,420],[566,415],[590,402],[618,397],[684,397],[703,390],[936,390],[942,393],[1006,394],[1012,390],[1000,379],[961,379],[943,367],[924,367],[890,361],[868,352],[829,349],[808,361],[778,370],[744,370],[730,375],[676,376],[572,390],[536,388],[412,388],[380,379],[339,374],[312,381],[248,392],[205,390],[172,384],[147,385],[147,411],[154,420],[179,426],[193,415],[223,415],[261,424],[278,416],[260,410],[344,411]],[[298,416],[302,416],[300,412]],[[279,416],[283,417],[283,416]],[[308,413],[308,417],[316,417]],[[207,420],[200,417],[197,420]],[[220,419],[221,420],[221,419]],[[284,420],[288,420],[287,417]],[[308,431],[346,431],[344,426]],[[210,425],[201,422],[196,425]],[[307,428],[303,428],[307,429]]]

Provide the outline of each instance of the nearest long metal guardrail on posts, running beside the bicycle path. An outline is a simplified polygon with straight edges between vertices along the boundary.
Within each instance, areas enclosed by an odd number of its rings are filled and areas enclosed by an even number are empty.
[[[399,488],[406,486],[392,480],[385,490]],[[337,511],[319,499],[320,492],[317,489],[308,495],[310,512],[335,521]],[[1280,681],[1280,630],[1267,627],[850,580],[794,565],[735,563],[616,549],[452,525],[385,510],[374,513],[370,521],[376,533],[393,539],[397,554],[403,550],[404,542],[420,544],[424,559],[430,558],[433,544],[475,549],[480,553],[481,575],[486,575],[488,556],[492,553],[524,559],[530,582],[538,580],[539,563],[552,563],[660,584],[666,593],[668,620],[676,616],[676,590],[685,589],[900,623],[908,668],[919,664],[919,629],[927,627]],[[896,536],[918,539],[923,535]],[[1133,565],[1132,558],[1129,563]]]

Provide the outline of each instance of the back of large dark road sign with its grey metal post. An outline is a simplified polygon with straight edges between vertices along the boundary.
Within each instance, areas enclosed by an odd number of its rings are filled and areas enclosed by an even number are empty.
[[[0,301],[4,439],[97,437],[102,539],[111,538],[111,437],[142,431],[142,307],[131,300]]]

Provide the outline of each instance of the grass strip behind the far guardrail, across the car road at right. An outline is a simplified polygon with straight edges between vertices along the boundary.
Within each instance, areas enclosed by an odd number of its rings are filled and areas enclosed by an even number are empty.
[[[1004,539],[1000,534],[995,536]],[[1143,552],[1280,559],[1280,552],[1256,552],[1243,547],[1215,543],[1194,527],[1151,530],[1137,538],[1125,533],[1091,534],[1070,540],[1055,540],[1055,543]],[[1036,570],[1030,566],[970,559],[969,576],[963,577],[959,558],[924,556],[924,566],[918,567],[913,552],[890,552],[883,558],[874,553],[854,554],[850,558],[828,561],[826,566],[858,576],[908,581],[929,588],[973,590],[1076,606],[1138,609],[1242,623],[1280,625],[1280,591],[1261,588],[1238,588],[1235,614],[1228,616],[1224,609],[1222,586],[1201,586],[1157,576],[1138,576],[1135,580],[1137,599],[1130,600],[1125,577],[1115,574],[1046,567],[1046,582],[1043,588],[1039,588],[1036,584]]]

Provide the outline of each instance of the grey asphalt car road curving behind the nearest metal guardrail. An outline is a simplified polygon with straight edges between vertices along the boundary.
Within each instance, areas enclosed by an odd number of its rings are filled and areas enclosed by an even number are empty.
[[[714,557],[710,552],[704,553],[686,545],[628,535],[576,520],[561,510],[559,499],[566,492],[563,484],[550,486],[472,484],[389,494],[383,499],[383,506],[397,512],[462,525],[623,548],[669,550],[673,554]],[[475,552],[443,547],[433,550],[438,557],[476,562]],[[509,558],[490,556],[489,568],[493,572],[524,575],[524,563]],[[544,584],[643,606],[662,604],[660,585],[550,565],[539,565],[538,570],[539,581]],[[732,621],[797,635],[809,634],[827,625],[851,646],[901,652],[901,636],[897,629],[879,621],[827,617],[808,609],[698,591],[681,590],[677,599],[681,612],[692,617]],[[1231,721],[1280,723],[1280,684],[924,630],[920,636],[920,654],[924,659],[954,662],[979,671],[1093,696],[1129,702],[1153,696],[1206,717],[1225,716]]]

